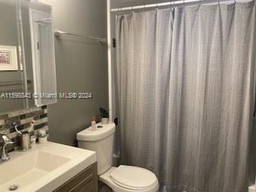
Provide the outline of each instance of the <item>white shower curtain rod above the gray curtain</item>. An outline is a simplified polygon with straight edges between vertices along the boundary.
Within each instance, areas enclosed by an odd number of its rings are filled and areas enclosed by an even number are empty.
[[[170,1],[170,2],[159,2],[153,4],[145,4],[142,6],[127,6],[111,9],[111,12],[118,12],[123,10],[142,10],[146,8],[154,8],[160,6],[177,6],[186,4],[186,6],[194,5],[196,3],[213,3],[213,2],[235,2],[235,0],[178,0],[178,1]]]

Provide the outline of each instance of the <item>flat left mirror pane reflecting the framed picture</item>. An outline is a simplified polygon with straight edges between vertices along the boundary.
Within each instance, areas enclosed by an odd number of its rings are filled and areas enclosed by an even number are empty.
[[[18,0],[0,0],[0,22],[0,114],[3,114],[26,108],[26,99],[20,98],[25,92],[25,83]]]

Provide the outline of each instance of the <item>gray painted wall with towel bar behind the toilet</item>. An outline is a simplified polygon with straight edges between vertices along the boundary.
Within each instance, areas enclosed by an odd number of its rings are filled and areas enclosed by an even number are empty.
[[[105,0],[41,0],[53,6],[54,29],[106,38]],[[92,92],[91,100],[63,100],[48,107],[50,140],[74,145],[98,107],[108,108],[107,51],[91,40],[55,38],[58,92]]]

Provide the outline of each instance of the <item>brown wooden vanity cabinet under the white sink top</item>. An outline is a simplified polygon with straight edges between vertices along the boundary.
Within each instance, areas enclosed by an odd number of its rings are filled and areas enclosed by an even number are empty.
[[[54,192],[97,192],[98,191],[98,174],[97,162],[82,170],[79,174],[75,175],[69,181],[65,182],[62,186]]]

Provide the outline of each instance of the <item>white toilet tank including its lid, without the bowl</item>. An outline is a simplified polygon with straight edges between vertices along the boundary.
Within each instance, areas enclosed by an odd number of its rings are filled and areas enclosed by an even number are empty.
[[[82,130],[77,134],[78,147],[96,152],[98,174],[103,174],[112,166],[112,155],[114,151],[114,131],[115,124],[102,125],[98,123],[97,130],[91,130],[91,127]]]

